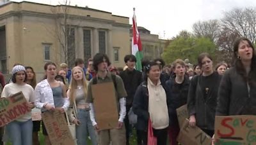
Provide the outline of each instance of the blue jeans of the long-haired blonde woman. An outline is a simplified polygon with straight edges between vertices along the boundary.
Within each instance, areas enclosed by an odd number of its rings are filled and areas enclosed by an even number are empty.
[[[77,108],[77,118],[81,122],[76,126],[77,145],[86,145],[88,133],[93,145],[97,145],[96,132],[90,120],[90,113],[85,109]]]

